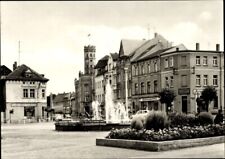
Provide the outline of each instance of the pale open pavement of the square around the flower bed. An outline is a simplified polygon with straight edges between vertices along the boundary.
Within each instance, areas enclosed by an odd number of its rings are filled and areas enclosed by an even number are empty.
[[[53,122],[1,125],[2,159],[224,158],[224,143],[149,152],[96,146],[109,132],[59,132]]]

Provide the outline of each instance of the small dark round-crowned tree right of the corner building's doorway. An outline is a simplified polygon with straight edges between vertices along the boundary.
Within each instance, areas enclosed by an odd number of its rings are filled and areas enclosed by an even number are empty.
[[[205,110],[208,112],[209,103],[217,97],[216,89],[213,86],[207,86],[201,94],[201,98],[205,101]]]

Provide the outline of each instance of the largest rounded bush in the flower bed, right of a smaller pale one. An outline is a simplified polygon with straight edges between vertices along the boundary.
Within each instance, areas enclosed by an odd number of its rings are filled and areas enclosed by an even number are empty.
[[[147,130],[154,129],[158,131],[166,127],[168,123],[168,117],[165,112],[151,111],[146,117],[145,128]]]

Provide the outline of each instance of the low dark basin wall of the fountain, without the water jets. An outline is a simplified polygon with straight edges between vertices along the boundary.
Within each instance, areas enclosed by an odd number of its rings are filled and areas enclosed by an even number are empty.
[[[106,123],[104,120],[58,121],[56,131],[109,131],[130,127],[130,123]]]

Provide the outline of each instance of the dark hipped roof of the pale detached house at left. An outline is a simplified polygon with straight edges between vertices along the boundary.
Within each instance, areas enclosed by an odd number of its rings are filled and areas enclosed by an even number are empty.
[[[43,75],[32,70],[26,65],[18,66],[13,72],[11,72],[6,80],[22,80],[22,81],[42,81],[47,82],[48,79],[43,77]]]

